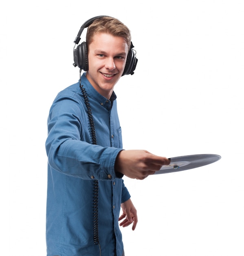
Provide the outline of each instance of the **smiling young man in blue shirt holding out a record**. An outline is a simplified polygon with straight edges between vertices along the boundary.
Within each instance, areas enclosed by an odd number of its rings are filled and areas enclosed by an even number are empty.
[[[121,256],[118,221],[137,224],[123,175],[142,180],[170,161],[122,149],[114,86],[131,50],[129,29],[99,16],[84,43],[86,72],[59,92],[48,116],[47,255]]]

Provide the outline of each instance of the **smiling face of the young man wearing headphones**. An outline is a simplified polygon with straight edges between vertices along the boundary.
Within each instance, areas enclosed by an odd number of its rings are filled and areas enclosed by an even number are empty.
[[[106,33],[95,34],[88,45],[86,78],[107,99],[123,74],[127,53],[128,46],[123,37]]]

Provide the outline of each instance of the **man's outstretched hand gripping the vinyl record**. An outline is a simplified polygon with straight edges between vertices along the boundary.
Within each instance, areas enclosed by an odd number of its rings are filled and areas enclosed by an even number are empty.
[[[169,164],[170,160],[166,157],[153,155],[146,150],[122,150],[117,155],[115,171],[132,179],[143,180]]]

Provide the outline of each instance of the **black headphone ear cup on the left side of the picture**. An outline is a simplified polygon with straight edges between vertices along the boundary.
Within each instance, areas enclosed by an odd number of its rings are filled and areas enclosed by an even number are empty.
[[[82,70],[88,70],[88,50],[86,42],[81,43],[74,50],[74,61]]]

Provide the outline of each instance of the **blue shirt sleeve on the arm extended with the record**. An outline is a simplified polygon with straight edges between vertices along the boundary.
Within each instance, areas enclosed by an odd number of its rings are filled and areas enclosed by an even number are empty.
[[[121,148],[81,140],[86,115],[74,95],[57,97],[48,116],[46,153],[51,168],[81,179],[114,180],[114,164]]]

